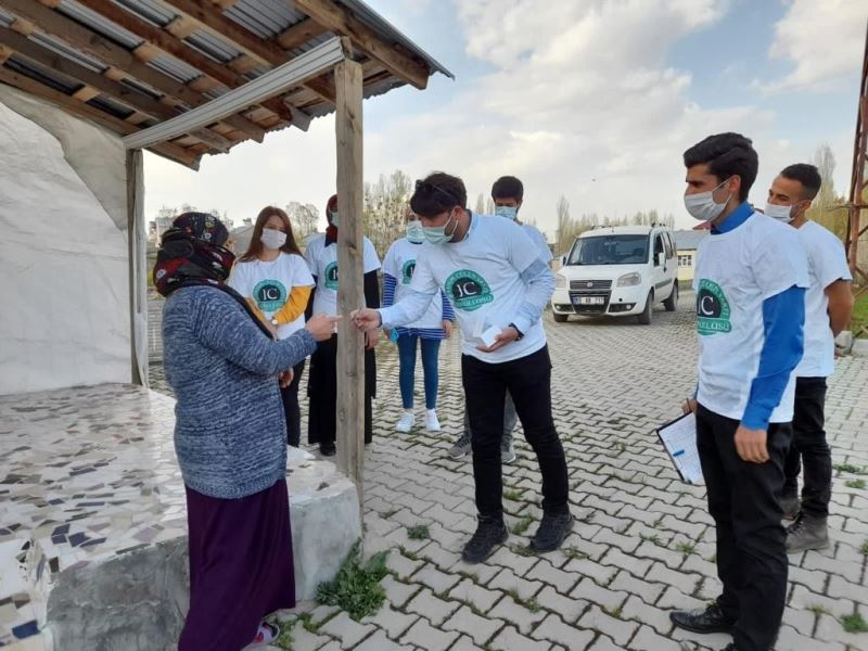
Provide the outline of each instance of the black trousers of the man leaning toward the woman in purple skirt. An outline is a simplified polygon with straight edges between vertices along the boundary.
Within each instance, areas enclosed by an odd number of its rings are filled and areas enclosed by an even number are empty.
[[[542,509],[552,513],[567,512],[570,486],[563,447],[551,418],[551,360],[548,347],[501,363],[488,363],[463,355],[461,375],[472,432],[476,510],[482,515],[503,515],[500,442],[503,436],[503,405],[509,388],[524,427],[524,436],[534,448],[542,473]]]

